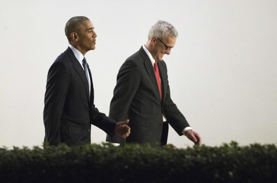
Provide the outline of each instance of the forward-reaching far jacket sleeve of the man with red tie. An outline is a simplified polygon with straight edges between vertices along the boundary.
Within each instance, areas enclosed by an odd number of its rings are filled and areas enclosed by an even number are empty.
[[[165,63],[164,63],[165,65]],[[166,68],[166,65],[165,65]],[[179,111],[176,104],[173,103],[171,97],[170,97],[170,88],[169,88],[169,82],[168,82],[168,76],[167,76],[167,69],[166,69],[166,96],[164,101],[164,107],[163,107],[163,113],[166,116],[167,122],[171,125],[171,127],[181,136],[183,135],[181,131],[189,127],[186,118],[184,115]]]

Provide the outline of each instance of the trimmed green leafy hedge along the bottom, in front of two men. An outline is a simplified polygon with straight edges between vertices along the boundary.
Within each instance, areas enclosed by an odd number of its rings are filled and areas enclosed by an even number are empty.
[[[87,144],[0,148],[0,182],[276,182],[277,148]]]

